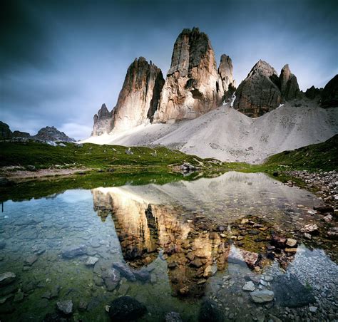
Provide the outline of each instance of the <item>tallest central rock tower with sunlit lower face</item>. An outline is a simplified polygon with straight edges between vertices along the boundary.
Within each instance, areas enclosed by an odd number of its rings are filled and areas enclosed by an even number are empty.
[[[154,122],[196,118],[221,105],[223,93],[208,36],[198,28],[183,29],[174,45]]]

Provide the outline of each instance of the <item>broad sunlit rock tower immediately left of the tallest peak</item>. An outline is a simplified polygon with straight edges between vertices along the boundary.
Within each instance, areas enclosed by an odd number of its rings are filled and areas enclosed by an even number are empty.
[[[150,122],[158,109],[164,78],[160,68],[140,57],[129,66],[118,103],[113,110],[113,130],[127,130]]]

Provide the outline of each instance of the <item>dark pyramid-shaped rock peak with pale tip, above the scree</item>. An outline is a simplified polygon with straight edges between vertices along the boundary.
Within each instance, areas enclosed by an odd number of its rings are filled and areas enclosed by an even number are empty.
[[[233,107],[251,118],[274,110],[282,102],[279,81],[274,68],[258,61],[238,86]]]

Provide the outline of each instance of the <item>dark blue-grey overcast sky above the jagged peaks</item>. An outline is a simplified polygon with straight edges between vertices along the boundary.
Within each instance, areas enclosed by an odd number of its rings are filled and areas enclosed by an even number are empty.
[[[88,137],[134,58],[165,75],[176,37],[193,26],[217,62],[232,58],[237,85],[259,59],[278,72],[289,63],[302,90],[338,73],[335,0],[3,0],[0,18],[0,120],[31,134],[54,125]]]

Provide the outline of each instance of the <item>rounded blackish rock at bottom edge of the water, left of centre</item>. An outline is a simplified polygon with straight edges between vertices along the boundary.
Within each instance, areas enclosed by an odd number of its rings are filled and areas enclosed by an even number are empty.
[[[111,321],[126,322],[141,318],[147,308],[130,296],[121,296],[111,302],[108,314]]]

